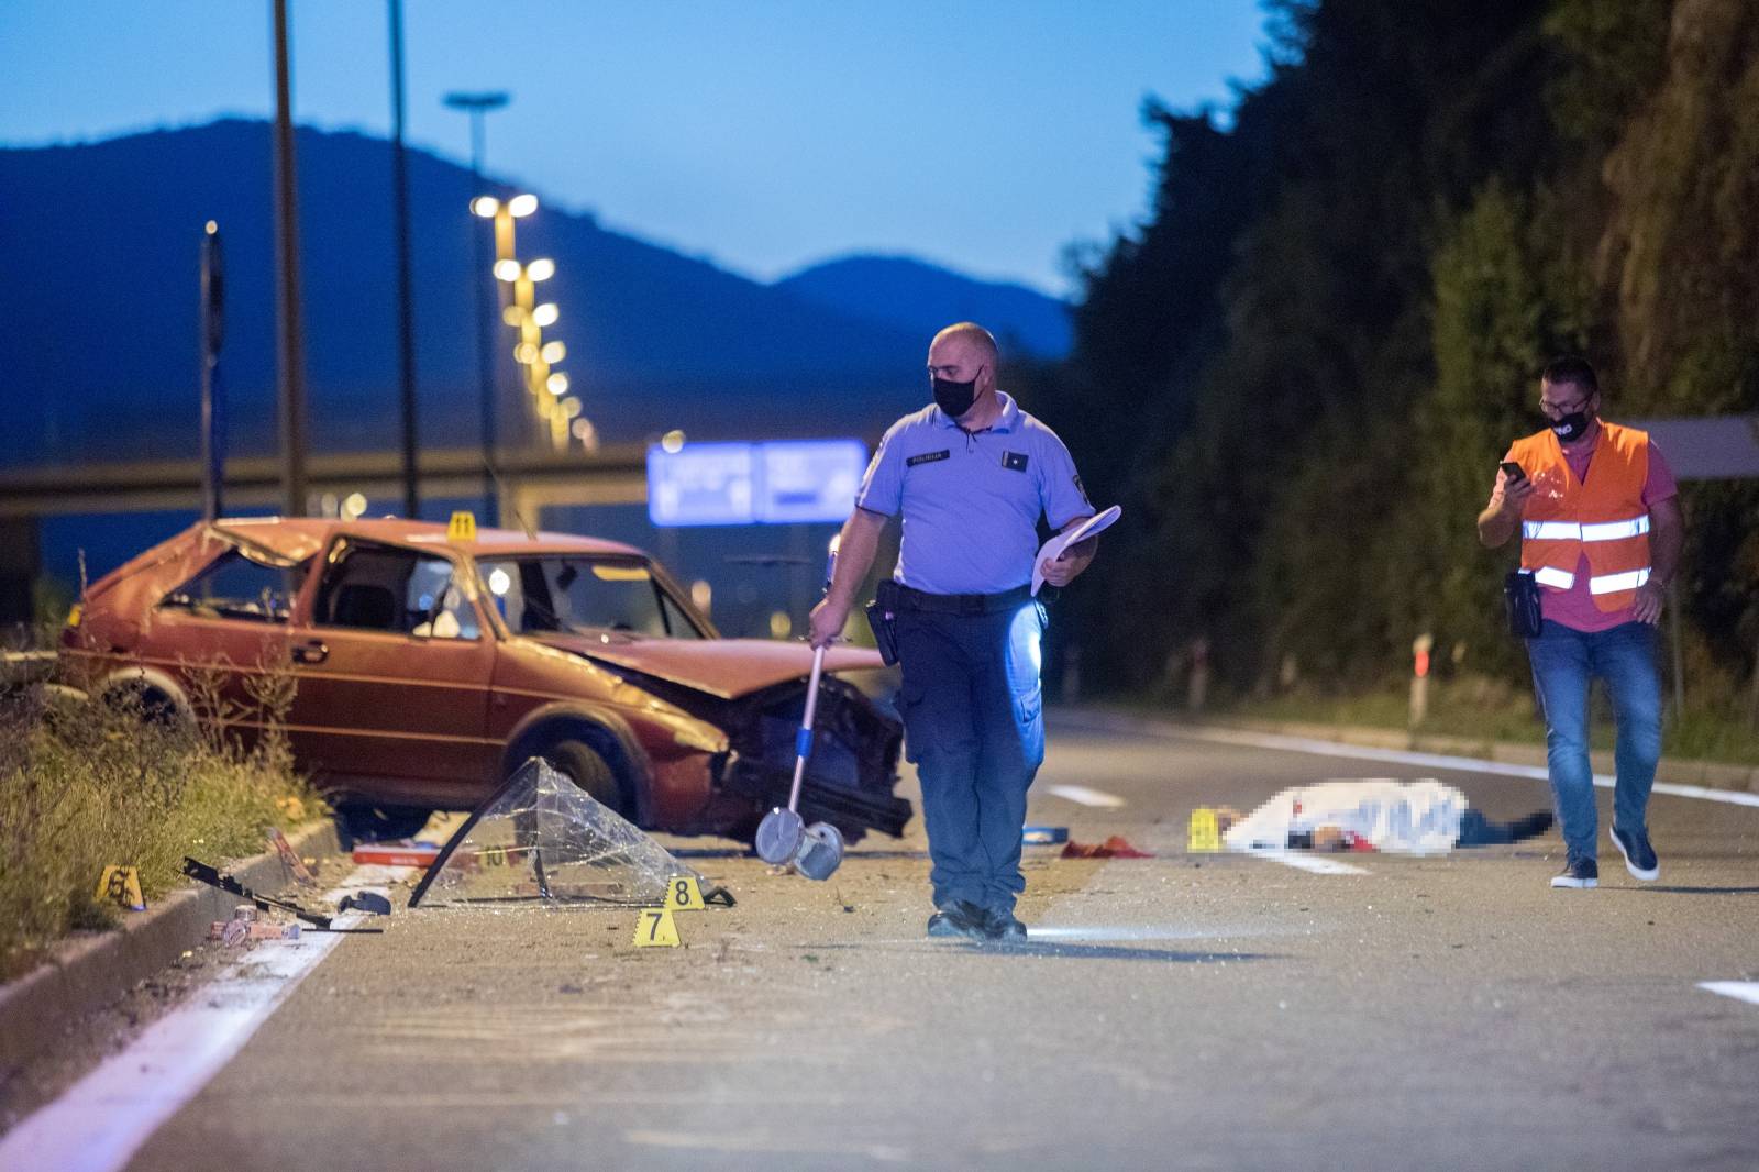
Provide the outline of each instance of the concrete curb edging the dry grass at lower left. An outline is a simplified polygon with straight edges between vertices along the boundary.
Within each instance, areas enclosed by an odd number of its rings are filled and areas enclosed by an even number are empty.
[[[301,853],[332,853],[336,825],[329,818],[313,824],[294,834],[292,845]],[[281,868],[271,850],[227,871],[246,887],[273,892],[285,882]],[[35,1061],[69,1026],[206,940],[208,926],[229,919],[237,903],[206,883],[190,885],[148,912],[123,913],[114,931],[56,945],[47,961],[0,987],[0,1072]]]

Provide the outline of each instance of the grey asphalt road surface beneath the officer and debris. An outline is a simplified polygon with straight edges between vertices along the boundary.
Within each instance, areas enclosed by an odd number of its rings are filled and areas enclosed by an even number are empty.
[[[693,859],[739,906],[679,950],[628,912],[399,912],[130,1167],[1759,1167],[1759,1005],[1696,987],[1759,978],[1759,809],[1657,795],[1660,882],[1608,845],[1594,892],[1548,887],[1555,834],[1360,875],[1184,852],[1194,806],[1333,776],[1548,804],[1064,720],[1031,818],[1157,857],[1029,852],[1020,952],[923,938],[920,827],[823,885]]]

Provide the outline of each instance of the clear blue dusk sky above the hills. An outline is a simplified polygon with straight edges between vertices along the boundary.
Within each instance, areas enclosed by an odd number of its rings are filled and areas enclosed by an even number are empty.
[[[294,114],[390,127],[387,9],[292,0]],[[273,114],[269,0],[9,0],[0,144]],[[466,160],[449,90],[508,90],[489,171],[772,280],[908,253],[1069,292],[1062,250],[1143,213],[1142,100],[1226,109],[1256,0],[406,0],[408,137]]]

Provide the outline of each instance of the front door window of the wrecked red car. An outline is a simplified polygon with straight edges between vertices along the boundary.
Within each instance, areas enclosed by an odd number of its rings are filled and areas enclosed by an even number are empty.
[[[447,558],[413,549],[345,542],[332,551],[318,590],[324,626],[382,630],[424,639],[477,639],[477,609]]]

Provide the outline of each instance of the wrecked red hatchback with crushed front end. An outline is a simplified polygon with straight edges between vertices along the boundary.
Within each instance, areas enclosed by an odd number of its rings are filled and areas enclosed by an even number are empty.
[[[60,667],[245,739],[285,681],[273,722],[345,808],[470,809],[544,757],[637,825],[749,838],[788,799],[811,651],[721,639],[616,542],[271,517],[195,524],[95,582]],[[878,653],[830,649],[800,804],[850,839],[909,820],[881,695]]]

